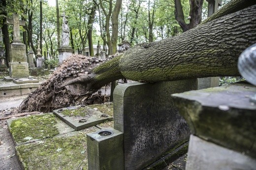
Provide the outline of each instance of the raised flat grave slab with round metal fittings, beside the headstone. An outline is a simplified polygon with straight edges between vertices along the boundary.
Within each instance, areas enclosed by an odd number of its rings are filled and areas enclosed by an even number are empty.
[[[108,114],[81,106],[62,108],[54,110],[53,113],[76,131],[113,119],[113,117]]]

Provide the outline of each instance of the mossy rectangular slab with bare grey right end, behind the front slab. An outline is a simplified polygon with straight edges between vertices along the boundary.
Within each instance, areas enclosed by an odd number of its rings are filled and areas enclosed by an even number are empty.
[[[7,126],[15,145],[40,141],[74,131],[52,113],[9,119]]]

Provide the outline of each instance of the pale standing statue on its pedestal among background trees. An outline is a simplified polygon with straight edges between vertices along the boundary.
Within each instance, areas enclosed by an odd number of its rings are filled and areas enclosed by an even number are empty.
[[[61,15],[63,17],[62,24],[62,46],[58,49],[59,51],[59,63],[61,63],[64,59],[71,56],[73,54],[73,49],[69,46],[69,27],[67,25],[67,16],[65,13]]]

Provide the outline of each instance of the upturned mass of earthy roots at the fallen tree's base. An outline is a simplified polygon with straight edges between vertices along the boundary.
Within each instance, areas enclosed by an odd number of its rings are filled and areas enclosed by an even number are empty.
[[[54,109],[70,105],[89,105],[92,102],[92,94],[100,87],[90,85],[91,71],[102,63],[96,57],[72,55],[54,71],[52,76],[33,91],[20,105],[21,111],[51,112]],[[77,81],[81,79],[81,81]],[[76,83],[69,83],[76,80]],[[87,80],[88,83],[85,83]],[[104,96],[101,103],[104,101]],[[98,96],[99,98],[99,96]],[[99,100],[100,101],[100,100]],[[98,102],[99,103],[99,102]]]

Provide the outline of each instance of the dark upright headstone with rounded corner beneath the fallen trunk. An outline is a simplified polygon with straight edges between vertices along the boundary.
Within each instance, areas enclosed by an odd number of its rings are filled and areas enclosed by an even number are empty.
[[[114,129],[124,133],[125,169],[143,169],[189,140],[189,127],[171,94],[193,89],[196,79],[116,86]]]

